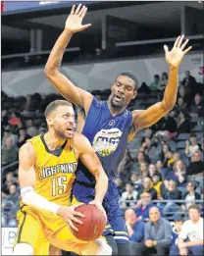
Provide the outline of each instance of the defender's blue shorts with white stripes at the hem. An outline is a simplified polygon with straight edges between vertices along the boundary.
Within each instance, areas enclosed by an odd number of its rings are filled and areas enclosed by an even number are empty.
[[[88,204],[94,199],[95,189],[92,185],[85,185],[76,181],[73,187],[73,195],[79,202]],[[114,181],[109,181],[108,191],[104,197],[103,207],[106,211],[108,223],[103,236],[113,234],[117,243],[129,243],[128,230],[119,205],[118,187]]]

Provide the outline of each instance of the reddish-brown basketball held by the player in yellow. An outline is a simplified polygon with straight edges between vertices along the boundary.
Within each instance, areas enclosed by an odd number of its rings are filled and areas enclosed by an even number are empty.
[[[77,217],[83,224],[79,225],[74,222],[77,230],[72,230],[75,236],[82,241],[93,241],[97,239],[106,226],[106,219],[103,213],[95,205],[80,205],[76,211],[83,214],[84,218]]]

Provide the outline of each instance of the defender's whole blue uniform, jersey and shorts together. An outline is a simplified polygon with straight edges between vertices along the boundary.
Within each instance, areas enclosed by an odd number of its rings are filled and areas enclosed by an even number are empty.
[[[97,101],[93,98],[82,130],[109,178],[108,191],[103,200],[108,223],[103,235],[114,231],[118,243],[129,242],[114,178],[126,152],[131,120],[132,114],[127,109],[113,117],[106,101]],[[77,179],[73,185],[73,195],[78,201],[86,204],[95,196],[95,178],[80,161],[77,166]]]

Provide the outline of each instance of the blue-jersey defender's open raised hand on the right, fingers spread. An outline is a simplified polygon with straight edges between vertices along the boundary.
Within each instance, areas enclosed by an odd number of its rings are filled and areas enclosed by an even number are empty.
[[[178,36],[172,51],[169,51],[167,45],[164,45],[166,61],[171,67],[178,68],[179,64],[182,61],[183,56],[192,48],[192,46],[190,46],[184,50],[189,39],[186,39],[182,43],[183,38],[184,35]]]

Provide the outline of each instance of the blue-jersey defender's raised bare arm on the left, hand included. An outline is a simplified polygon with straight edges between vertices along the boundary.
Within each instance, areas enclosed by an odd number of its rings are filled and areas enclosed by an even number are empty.
[[[50,53],[44,74],[61,95],[72,103],[83,107],[87,113],[93,96],[87,91],[78,88],[69,78],[60,73],[63,55],[73,34],[90,26],[81,25],[87,8],[85,6],[80,7],[81,5],[78,5],[77,10],[75,10],[75,6],[73,6],[71,14],[67,19],[65,29]]]

